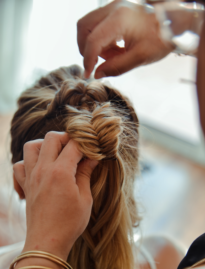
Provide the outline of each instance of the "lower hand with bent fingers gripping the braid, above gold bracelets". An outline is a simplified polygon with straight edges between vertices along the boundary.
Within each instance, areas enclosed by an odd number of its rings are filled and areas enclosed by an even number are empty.
[[[63,132],[49,132],[45,139],[24,145],[24,161],[13,166],[26,198],[23,252],[42,250],[66,260],[85,230],[93,203],[90,176],[97,161],[81,158],[76,143]]]

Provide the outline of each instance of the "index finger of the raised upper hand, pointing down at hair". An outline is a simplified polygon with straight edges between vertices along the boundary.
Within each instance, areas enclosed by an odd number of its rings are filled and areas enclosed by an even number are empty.
[[[120,14],[119,14],[120,15]],[[111,13],[102,20],[93,31],[87,36],[84,49],[84,77],[89,77],[94,69],[96,58],[101,54],[104,47],[107,47],[120,36],[124,36],[123,25],[118,14],[116,16]]]

